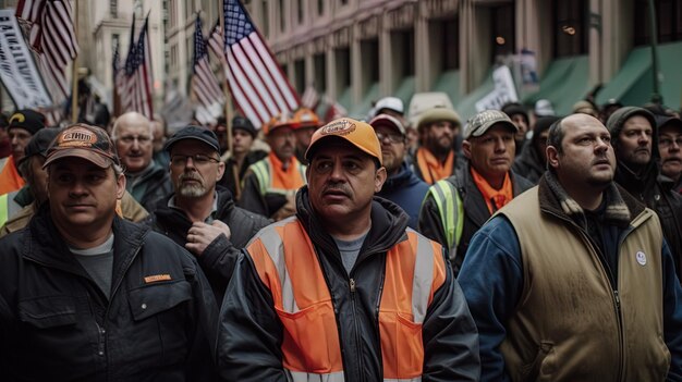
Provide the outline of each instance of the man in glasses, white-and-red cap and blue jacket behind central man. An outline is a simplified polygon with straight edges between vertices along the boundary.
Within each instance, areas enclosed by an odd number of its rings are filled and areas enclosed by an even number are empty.
[[[405,161],[405,126],[390,114],[379,114],[369,121],[381,144],[381,158],[388,178],[377,193],[385,199],[400,206],[410,215],[407,225],[417,229],[422,200],[428,190],[428,184],[417,177]]]

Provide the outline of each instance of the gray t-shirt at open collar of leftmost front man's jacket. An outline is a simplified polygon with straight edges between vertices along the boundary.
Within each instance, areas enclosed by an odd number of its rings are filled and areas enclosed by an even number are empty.
[[[69,247],[69,249],[101,292],[109,298],[111,294],[111,273],[113,272],[113,234],[95,248],[78,249]]]

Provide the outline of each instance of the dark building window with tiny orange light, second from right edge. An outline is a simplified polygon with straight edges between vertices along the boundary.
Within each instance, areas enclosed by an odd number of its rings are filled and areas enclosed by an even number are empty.
[[[555,0],[555,57],[587,54],[587,0]]]

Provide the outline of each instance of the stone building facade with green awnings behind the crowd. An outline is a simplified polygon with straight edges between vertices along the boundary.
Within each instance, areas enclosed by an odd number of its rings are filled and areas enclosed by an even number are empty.
[[[663,102],[680,108],[682,4],[655,0]],[[245,1],[292,85],[313,85],[362,118],[393,95],[444,91],[464,118],[512,69],[519,98],[571,111],[598,84],[642,104],[653,93],[648,0],[251,0]],[[521,52],[525,54],[520,54]],[[529,64],[536,79],[522,78]],[[526,66],[524,66],[526,65]],[[533,72],[533,71],[532,71]],[[662,78],[662,81],[660,81]],[[524,81],[525,79],[525,81]]]

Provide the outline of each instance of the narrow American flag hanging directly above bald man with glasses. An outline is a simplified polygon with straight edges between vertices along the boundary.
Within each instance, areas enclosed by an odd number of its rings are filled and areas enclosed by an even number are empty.
[[[134,24],[133,24],[134,25]],[[130,97],[124,111],[136,111],[149,120],[154,119],[151,104],[151,62],[149,54],[149,16],[139,32],[137,42],[131,45],[125,60],[125,89]]]

